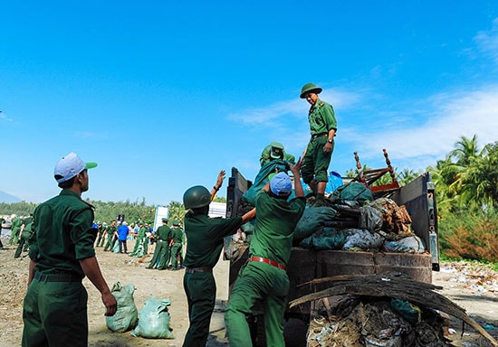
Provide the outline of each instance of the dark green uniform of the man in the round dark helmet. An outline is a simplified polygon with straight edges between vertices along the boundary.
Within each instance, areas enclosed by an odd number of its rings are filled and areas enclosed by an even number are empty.
[[[187,295],[188,327],[184,347],[206,346],[211,314],[215,308],[216,284],[212,268],[223,249],[223,240],[242,225],[242,218],[210,219],[188,212],[185,217],[187,235],[186,268],[183,286]]]

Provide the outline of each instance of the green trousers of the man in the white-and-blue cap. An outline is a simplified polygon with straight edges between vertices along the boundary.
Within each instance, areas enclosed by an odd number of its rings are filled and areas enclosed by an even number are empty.
[[[88,295],[81,281],[34,279],[24,296],[23,347],[87,347]]]

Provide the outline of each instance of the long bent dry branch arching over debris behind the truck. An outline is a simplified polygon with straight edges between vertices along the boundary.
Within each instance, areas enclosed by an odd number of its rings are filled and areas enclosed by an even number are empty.
[[[359,276],[336,276],[324,277],[312,280],[304,285],[320,284],[330,282],[330,287],[317,293],[303,295],[289,303],[290,307],[301,305],[313,300],[333,296],[333,295],[369,295],[378,297],[392,297],[406,300],[412,304],[426,306],[428,308],[443,311],[454,317],[461,319],[464,323],[472,326],[478,333],[484,336],[493,346],[498,347],[498,342],[493,339],[484,328],[477,324],[463,307],[456,305],[444,295],[434,292],[435,289],[442,289],[441,286],[429,285],[417,282],[399,274],[382,275],[359,275]]]

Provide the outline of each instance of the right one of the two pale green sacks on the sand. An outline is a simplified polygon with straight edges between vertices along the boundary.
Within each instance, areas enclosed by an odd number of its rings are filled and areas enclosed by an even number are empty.
[[[139,324],[131,332],[132,336],[141,336],[148,339],[174,339],[169,327],[170,315],[168,306],[169,299],[157,299],[150,296],[139,312]]]

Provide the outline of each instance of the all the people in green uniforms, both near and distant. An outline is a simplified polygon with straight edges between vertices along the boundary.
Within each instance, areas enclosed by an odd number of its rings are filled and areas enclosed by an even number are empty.
[[[254,208],[240,217],[208,216],[209,204],[224,183],[225,171],[220,171],[211,191],[203,185],[190,187],[183,196],[187,209],[183,220],[185,233],[182,220],[172,220],[168,226],[168,219],[163,219],[157,230],[151,230],[147,223],[128,225],[125,220],[111,220],[109,225],[94,222],[93,207],[81,199],[81,194],[89,189],[88,170],[97,164],[85,163],[74,153],[63,156],[53,174],[62,191],[38,205],[30,217],[32,235],[28,242],[30,266],[22,345],[87,346],[88,296],[81,279],[88,277],[100,291],[106,315],[115,314],[116,298],[101,274],[95,248],[128,254],[127,240],[131,237],[136,242],[129,256],[143,257],[149,254],[149,248],[155,248],[148,269],[185,267],[189,327],[183,346],[205,346],[215,308],[213,267],[220,258],[225,237],[244,239],[240,227],[254,220],[249,258],[235,281],[225,313],[228,339],[235,347],[252,346],[247,317],[255,303],[262,301],[266,341],[271,346],[284,346],[283,314],[289,292],[285,269],[291,256],[293,230],[306,205],[301,176],[315,196],[314,206],[321,206],[337,131],[333,108],[318,97],[321,91],[308,83],[300,93],[300,98],[311,105],[311,138],[302,158],[296,160],[285,153],[280,143],[266,146],[260,160],[262,168],[273,160],[282,160],[285,170],[265,177],[266,183],[255,196]],[[295,195],[291,198],[292,192]],[[27,228],[22,221],[16,222],[15,227],[22,228],[17,224]],[[12,240],[15,242],[15,236]]]

